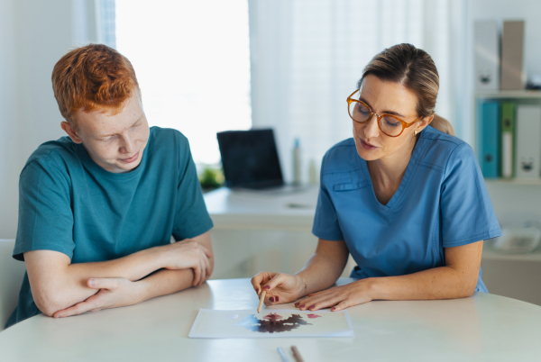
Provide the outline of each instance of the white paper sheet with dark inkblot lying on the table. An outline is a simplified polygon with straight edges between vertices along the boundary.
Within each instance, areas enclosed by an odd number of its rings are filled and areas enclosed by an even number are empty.
[[[190,338],[353,337],[347,311],[200,309]]]

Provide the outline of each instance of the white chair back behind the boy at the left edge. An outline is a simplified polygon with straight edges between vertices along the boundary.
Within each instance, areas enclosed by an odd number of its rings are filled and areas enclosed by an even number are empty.
[[[12,258],[15,240],[0,239],[0,330],[14,312],[26,271],[22,261]]]

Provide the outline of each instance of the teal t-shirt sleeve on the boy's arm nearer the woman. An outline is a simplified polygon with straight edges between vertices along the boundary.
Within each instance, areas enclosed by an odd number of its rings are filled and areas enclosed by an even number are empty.
[[[181,155],[173,237],[175,240],[184,240],[209,231],[213,223],[206,211],[188,139],[179,133],[179,142]]]

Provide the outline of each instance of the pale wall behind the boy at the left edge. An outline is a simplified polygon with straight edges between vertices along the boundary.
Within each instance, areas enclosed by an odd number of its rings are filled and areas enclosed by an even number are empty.
[[[16,233],[17,185],[26,159],[42,142],[64,135],[50,74],[69,49],[95,41],[95,4],[0,2],[0,239]]]

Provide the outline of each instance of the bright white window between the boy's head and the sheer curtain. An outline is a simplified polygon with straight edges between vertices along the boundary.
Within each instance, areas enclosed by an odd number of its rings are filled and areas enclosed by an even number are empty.
[[[218,163],[216,132],[252,126],[247,0],[116,0],[115,12],[150,125],[181,131],[196,163]]]

